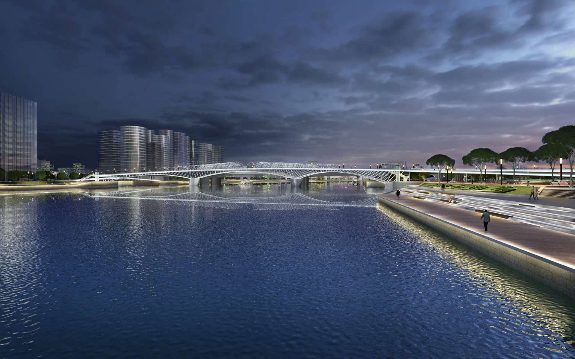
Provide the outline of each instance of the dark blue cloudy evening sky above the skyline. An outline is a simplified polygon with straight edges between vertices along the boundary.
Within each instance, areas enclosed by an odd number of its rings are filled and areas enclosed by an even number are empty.
[[[185,132],[225,161],[462,166],[573,125],[575,2],[0,0],[0,91],[38,102],[38,157],[98,131]]]

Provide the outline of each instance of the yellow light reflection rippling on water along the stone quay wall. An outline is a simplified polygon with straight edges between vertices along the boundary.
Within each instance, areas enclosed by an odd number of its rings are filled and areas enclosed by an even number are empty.
[[[378,210],[411,231],[432,252],[447,258],[465,276],[458,277],[466,283],[473,302],[462,303],[476,307],[478,312],[491,315],[490,327],[511,335],[518,331],[534,337],[551,352],[561,352],[573,357],[571,345],[575,339],[575,314],[559,310],[561,304],[569,305],[570,299],[536,283],[527,276],[505,267],[478,252],[459,244],[415,221],[404,214],[379,204]],[[449,275],[443,273],[443,275]],[[549,295],[549,291],[555,295]]]

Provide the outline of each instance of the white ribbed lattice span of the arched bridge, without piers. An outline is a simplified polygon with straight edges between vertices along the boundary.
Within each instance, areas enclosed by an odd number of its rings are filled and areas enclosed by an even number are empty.
[[[361,176],[378,182],[392,182],[397,177],[405,179],[405,175],[397,169],[359,169],[339,168],[338,165],[252,162],[244,166],[238,162],[214,163],[208,165],[182,166],[177,168],[164,168],[160,171],[133,172],[133,173],[106,173],[90,175],[79,181],[115,181],[153,180],[152,176],[172,176],[183,179],[202,179],[205,177],[224,177],[235,175],[272,175],[286,179],[303,179],[315,176]]]

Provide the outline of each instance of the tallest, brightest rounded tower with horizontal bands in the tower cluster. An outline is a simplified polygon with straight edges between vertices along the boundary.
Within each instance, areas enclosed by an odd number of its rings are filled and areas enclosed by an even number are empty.
[[[121,126],[120,167],[125,172],[144,172],[147,165],[146,129]]]

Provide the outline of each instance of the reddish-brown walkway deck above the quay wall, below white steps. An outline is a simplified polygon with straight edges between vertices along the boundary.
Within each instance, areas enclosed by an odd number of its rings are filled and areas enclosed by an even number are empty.
[[[489,231],[485,232],[480,220],[481,213],[459,209],[457,204],[434,203],[408,196],[397,199],[395,193],[379,196],[575,269],[575,236],[572,234],[512,222],[493,215]]]

